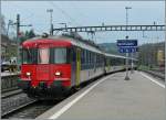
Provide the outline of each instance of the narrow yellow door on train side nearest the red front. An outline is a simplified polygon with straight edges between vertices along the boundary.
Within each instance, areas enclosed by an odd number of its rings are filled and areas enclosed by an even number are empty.
[[[76,48],[76,88],[80,87],[80,74],[81,74],[81,50]]]

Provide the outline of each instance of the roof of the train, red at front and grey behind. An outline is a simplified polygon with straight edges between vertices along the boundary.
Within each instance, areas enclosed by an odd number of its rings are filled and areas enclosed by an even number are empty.
[[[41,42],[42,43],[49,42],[49,43],[52,43],[52,45],[59,43],[58,45],[60,45],[60,46],[75,45],[75,46],[79,46],[81,48],[85,48],[85,50],[89,50],[89,51],[92,51],[92,52],[95,52],[98,54],[103,54],[103,55],[108,56],[108,57],[128,58],[128,59],[136,61],[135,58],[132,58],[132,57],[105,53],[96,44],[92,43],[91,41],[83,40],[83,39],[76,39],[76,37],[70,37],[69,35],[56,35],[56,36],[53,35],[53,36],[48,36],[48,37],[41,37],[41,36],[33,37],[31,40],[23,42],[22,46],[33,46],[33,45],[35,45],[35,43],[41,43]]]

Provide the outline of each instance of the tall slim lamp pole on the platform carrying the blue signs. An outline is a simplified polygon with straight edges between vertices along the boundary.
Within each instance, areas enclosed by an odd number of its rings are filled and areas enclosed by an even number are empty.
[[[125,7],[126,9],[126,40],[128,40],[128,35],[127,35],[127,25],[128,25],[128,9],[132,9],[131,7]],[[128,77],[128,53],[126,53],[126,76],[125,76],[125,80],[129,80]]]

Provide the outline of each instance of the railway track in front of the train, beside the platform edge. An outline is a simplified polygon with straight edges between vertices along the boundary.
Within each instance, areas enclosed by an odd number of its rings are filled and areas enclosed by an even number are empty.
[[[54,107],[62,100],[31,100],[24,105],[21,105],[8,112],[3,112],[2,119],[35,119],[38,116],[42,114],[50,108]]]

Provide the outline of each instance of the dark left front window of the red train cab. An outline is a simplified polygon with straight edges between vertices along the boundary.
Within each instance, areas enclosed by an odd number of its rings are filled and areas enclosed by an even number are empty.
[[[22,64],[37,64],[37,48],[23,48],[22,50]]]

